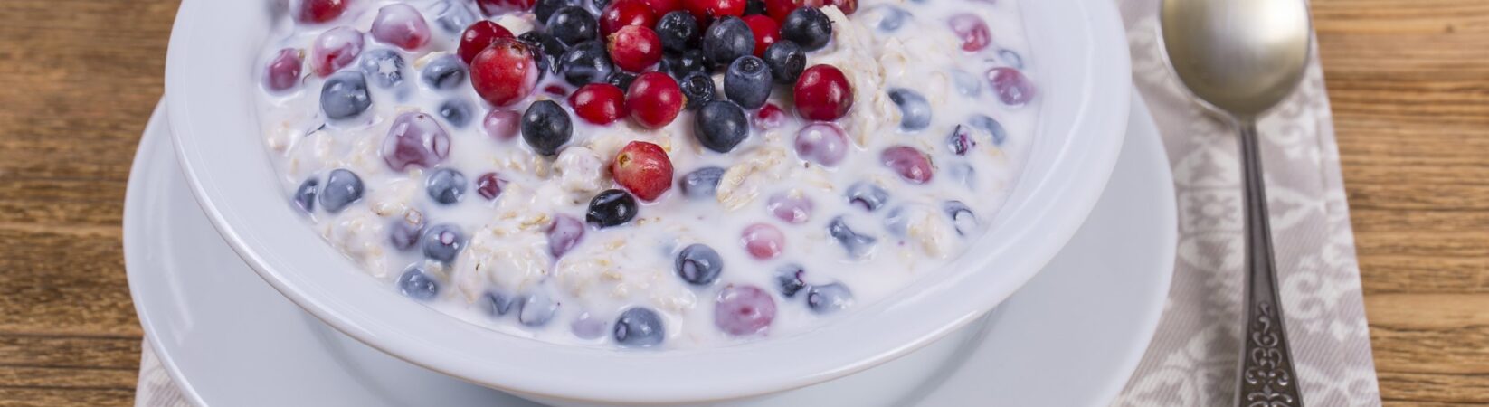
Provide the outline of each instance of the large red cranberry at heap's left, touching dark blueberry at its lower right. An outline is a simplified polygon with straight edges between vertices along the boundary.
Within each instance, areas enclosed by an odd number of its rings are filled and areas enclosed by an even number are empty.
[[[538,86],[538,75],[527,45],[515,39],[497,39],[471,61],[471,85],[481,98],[496,106],[526,98]]]

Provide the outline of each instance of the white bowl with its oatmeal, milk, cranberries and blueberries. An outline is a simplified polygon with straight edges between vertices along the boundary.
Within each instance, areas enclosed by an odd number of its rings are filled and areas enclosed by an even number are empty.
[[[182,4],[177,158],[284,297],[549,403],[740,400],[1032,277],[1123,142],[1100,0]]]

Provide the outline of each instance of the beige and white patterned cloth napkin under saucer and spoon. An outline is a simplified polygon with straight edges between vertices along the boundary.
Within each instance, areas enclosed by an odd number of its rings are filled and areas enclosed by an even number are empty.
[[[1233,406],[1240,346],[1242,207],[1236,131],[1184,94],[1163,61],[1160,0],[1117,0],[1133,82],[1173,165],[1179,250],[1158,332],[1114,406]],[[1301,89],[1260,124],[1289,340],[1307,406],[1380,406],[1339,148],[1315,57]],[[143,346],[135,406],[188,406]]]

